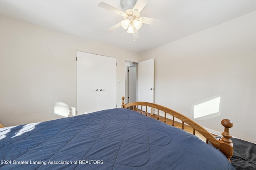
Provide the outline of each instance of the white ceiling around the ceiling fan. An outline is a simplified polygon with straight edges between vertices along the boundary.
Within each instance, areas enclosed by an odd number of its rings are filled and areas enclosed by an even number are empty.
[[[0,14],[143,53],[256,11],[256,0],[150,0],[140,15],[161,22],[143,24],[134,42],[122,27],[106,31],[122,16],[99,8],[101,1],[122,10],[119,0],[0,0]]]

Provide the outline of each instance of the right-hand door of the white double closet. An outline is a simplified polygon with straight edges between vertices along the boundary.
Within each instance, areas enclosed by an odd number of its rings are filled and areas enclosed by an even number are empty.
[[[116,107],[116,58],[99,56],[99,110]]]

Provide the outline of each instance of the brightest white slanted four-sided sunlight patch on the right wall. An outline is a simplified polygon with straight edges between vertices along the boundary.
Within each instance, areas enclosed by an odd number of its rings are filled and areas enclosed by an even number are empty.
[[[204,117],[220,111],[220,97],[194,105],[192,117],[194,119]]]

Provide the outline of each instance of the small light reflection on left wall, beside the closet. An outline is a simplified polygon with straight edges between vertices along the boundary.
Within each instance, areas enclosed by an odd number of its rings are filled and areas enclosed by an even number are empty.
[[[54,104],[54,115],[58,115],[59,118],[75,116],[76,109],[63,102],[56,102]]]

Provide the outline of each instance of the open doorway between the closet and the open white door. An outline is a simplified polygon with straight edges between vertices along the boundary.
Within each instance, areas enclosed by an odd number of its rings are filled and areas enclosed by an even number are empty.
[[[138,63],[125,61],[126,88],[125,103],[138,101]]]

